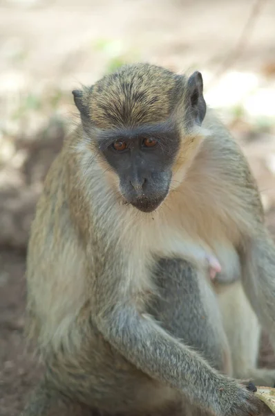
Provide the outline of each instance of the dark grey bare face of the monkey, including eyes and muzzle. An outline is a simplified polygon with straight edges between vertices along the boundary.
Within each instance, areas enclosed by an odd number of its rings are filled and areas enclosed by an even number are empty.
[[[120,178],[122,196],[144,212],[154,211],[167,196],[178,147],[178,134],[164,125],[105,132],[99,139]]]

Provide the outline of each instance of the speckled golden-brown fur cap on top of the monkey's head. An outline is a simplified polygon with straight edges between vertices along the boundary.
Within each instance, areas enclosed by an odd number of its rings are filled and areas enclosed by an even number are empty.
[[[178,80],[176,73],[149,64],[122,67],[91,89],[91,121],[98,128],[163,121],[173,108]]]

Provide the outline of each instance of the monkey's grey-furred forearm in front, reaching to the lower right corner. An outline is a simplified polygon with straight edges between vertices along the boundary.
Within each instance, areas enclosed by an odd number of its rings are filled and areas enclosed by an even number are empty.
[[[198,278],[195,271],[193,277]],[[102,275],[100,286],[104,279],[110,282],[109,275]],[[199,354],[140,312],[133,297],[129,302],[117,299],[112,307],[104,304],[105,299],[106,293],[97,292],[97,302],[103,302],[97,310],[104,313],[96,313],[93,319],[104,338],[136,367],[215,415],[256,414],[251,392],[216,372]]]

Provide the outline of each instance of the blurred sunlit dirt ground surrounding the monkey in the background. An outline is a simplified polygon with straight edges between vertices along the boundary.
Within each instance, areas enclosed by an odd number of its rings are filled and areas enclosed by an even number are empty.
[[[123,62],[200,69],[206,98],[257,177],[275,233],[275,2],[236,50],[253,0],[0,0],[0,415],[39,376],[23,352],[25,251],[48,166],[70,128],[70,92]],[[228,59],[231,57],[232,59]],[[262,365],[275,365],[263,340]]]

